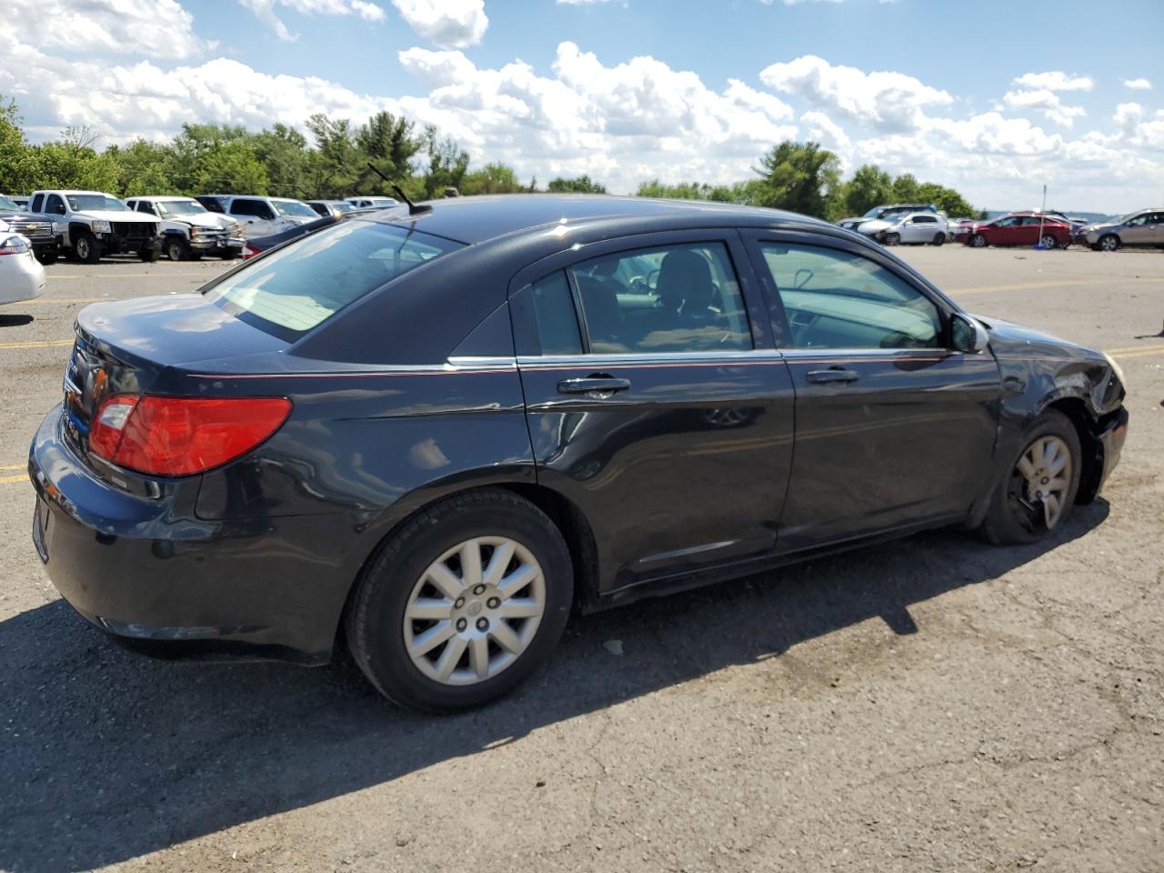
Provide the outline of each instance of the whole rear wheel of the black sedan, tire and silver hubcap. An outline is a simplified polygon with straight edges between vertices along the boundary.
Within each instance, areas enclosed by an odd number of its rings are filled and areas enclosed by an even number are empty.
[[[549,656],[574,574],[554,523],[509,491],[470,491],[418,513],[384,542],[347,616],[356,663],[411,709],[477,707]]]

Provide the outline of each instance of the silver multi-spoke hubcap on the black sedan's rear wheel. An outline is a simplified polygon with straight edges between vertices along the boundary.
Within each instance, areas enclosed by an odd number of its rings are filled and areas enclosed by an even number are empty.
[[[528,647],[546,611],[541,567],[520,542],[478,537],[426,569],[404,609],[404,645],[428,679],[491,679]]]

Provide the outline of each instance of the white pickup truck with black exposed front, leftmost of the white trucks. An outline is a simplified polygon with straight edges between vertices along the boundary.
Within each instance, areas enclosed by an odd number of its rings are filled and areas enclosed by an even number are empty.
[[[113,194],[34,191],[29,210],[50,215],[61,250],[86,264],[125,251],[136,251],[142,261],[155,261],[161,250],[157,219],[133,212]]]

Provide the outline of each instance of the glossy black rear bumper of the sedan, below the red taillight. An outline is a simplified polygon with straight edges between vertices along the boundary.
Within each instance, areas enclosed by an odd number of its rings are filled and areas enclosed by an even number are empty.
[[[128,494],[76,456],[59,407],[41,424],[28,469],[49,579],[98,627],[163,656],[331,658],[352,582],[345,516],[206,521],[182,509],[190,489]],[[325,538],[331,555],[312,549]]]

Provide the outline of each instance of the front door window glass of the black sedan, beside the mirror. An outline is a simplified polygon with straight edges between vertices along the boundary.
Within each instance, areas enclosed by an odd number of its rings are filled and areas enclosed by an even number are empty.
[[[937,306],[859,255],[760,243],[792,328],[793,348],[936,348]]]

